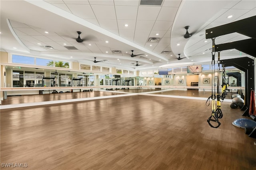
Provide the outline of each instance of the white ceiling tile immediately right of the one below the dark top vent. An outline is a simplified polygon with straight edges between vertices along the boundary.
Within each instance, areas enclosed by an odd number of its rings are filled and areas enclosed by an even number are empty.
[[[157,17],[157,21],[174,21],[178,8],[163,7]]]

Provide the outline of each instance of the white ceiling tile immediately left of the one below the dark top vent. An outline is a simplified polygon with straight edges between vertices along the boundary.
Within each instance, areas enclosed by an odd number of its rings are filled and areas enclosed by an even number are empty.
[[[115,9],[118,20],[136,20],[137,6],[116,6]]]

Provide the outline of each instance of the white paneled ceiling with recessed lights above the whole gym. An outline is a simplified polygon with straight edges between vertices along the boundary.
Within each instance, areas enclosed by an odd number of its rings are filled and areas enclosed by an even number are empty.
[[[209,62],[212,42],[205,39],[205,30],[256,15],[254,0],[1,0],[0,3],[1,51],[131,70]],[[188,39],[183,37],[185,26],[190,26],[188,32],[192,34]],[[82,43],[76,42],[77,31],[82,32]],[[216,38],[216,43],[247,38],[234,33]],[[141,55],[130,57],[131,50]],[[178,53],[185,58],[178,60]],[[248,56],[236,49],[221,54],[224,59]],[[106,61],[93,63],[94,57]],[[131,64],[136,61],[142,65]]]

